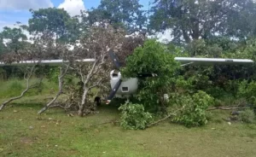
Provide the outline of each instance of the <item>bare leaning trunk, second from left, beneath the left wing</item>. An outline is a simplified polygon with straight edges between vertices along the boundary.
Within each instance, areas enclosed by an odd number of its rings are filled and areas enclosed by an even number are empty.
[[[44,113],[48,108],[50,108],[54,102],[61,96],[62,90],[63,90],[63,78],[67,74],[69,66],[66,67],[65,71],[63,71],[62,67],[60,67],[60,75],[58,76],[58,81],[59,81],[59,91],[56,94],[56,96],[40,111],[38,111],[38,114]]]

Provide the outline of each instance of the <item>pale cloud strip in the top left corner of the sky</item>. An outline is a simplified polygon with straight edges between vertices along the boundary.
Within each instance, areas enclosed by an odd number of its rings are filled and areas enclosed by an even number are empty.
[[[0,9],[42,9],[54,7],[50,0],[0,0]]]

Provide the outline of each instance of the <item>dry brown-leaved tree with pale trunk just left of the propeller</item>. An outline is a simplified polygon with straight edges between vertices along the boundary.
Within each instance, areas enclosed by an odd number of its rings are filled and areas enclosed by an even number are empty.
[[[80,38],[79,46],[75,47],[73,55],[76,58],[92,58],[95,61],[91,64],[76,63],[74,69],[79,73],[83,87],[79,102],[79,115],[90,113],[89,95],[93,88],[99,87],[108,82],[111,61],[108,60],[108,50],[119,49],[125,38],[125,32],[115,30],[106,22],[98,26],[91,26],[89,37]]]

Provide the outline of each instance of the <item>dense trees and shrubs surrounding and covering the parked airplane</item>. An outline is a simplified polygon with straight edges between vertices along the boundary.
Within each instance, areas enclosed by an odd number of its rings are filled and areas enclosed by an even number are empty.
[[[30,10],[28,25],[0,32],[0,61],[63,59],[55,67],[1,67],[0,78],[42,77],[59,85],[51,106],[96,113],[90,98],[108,94],[113,49],[126,77],[157,73],[140,80],[135,100],[121,105],[120,124],[144,129],[153,119],[186,126],[207,124],[210,108],[242,108],[241,121],[252,123],[256,112],[254,65],[180,67],[175,56],[240,58],[256,61],[256,3],[253,0],[154,0],[147,10],[138,0],[102,0],[97,8],[71,16],[64,9]],[[171,41],[154,38],[170,32]],[[29,34],[29,36],[28,36]],[[92,65],[76,60],[94,58]],[[40,66],[40,65],[39,65]],[[59,73],[60,72],[60,73]],[[78,81],[79,80],[79,81]],[[27,81],[28,84],[28,81]],[[27,86],[26,90],[34,88]],[[25,90],[25,91],[26,91]],[[55,104],[63,93],[67,101]],[[169,95],[166,101],[164,94]],[[22,94],[21,94],[22,97]],[[9,102],[7,102],[9,103]],[[7,103],[3,102],[0,110]],[[253,113],[254,112],[254,113]]]

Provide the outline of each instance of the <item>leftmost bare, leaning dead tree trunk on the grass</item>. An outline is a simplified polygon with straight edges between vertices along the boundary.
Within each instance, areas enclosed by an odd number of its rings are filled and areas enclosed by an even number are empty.
[[[24,74],[24,79],[26,80],[26,90],[23,90],[22,93],[20,94],[20,96],[16,96],[16,97],[10,98],[8,101],[3,102],[3,103],[1,104],[1,106],[0,106],[0,111],[2,111],[3,108],[5,108],[6,105],[7,105],[9,102],[13,102],[13,101],[15,101],[15,100],[18,100],[18,99],[22,98],[22,97],[26,94],[26,92],[27,92],[28,90],[30,90],[30,89],[32,89],[32,88],[38,87],[38,85],[36,85],[36,84],[34,84],[34,85],[32,85],[32,86],[29,84],[29,80],[30,80],[30,78],[32,77],[32,74],[33,74],[33,73],[34,73],[34,67],[32,67],[32,69],[31,69],[30,71],[27,71],[27,73]],[[42,80],[40,80],[40,82],[41,82],[41,81],[42,81]]]

